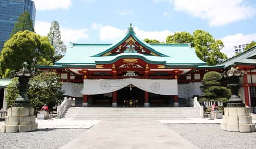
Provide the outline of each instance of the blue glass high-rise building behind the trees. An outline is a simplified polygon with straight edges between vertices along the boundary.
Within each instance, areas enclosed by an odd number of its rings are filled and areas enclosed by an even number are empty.
[[[0,51],[20,14],[27,10],[35,25],[35,4],[31,0],[0,0]]]

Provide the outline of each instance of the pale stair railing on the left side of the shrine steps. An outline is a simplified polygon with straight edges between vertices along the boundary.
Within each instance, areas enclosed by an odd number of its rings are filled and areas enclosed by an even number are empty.
[[[61,118],[65,111],[67,110],[67,107],[74,107],[75,106],[75,98],[67,98],[64,97],[64,101],[58,105],[57,107],[57,118]]]

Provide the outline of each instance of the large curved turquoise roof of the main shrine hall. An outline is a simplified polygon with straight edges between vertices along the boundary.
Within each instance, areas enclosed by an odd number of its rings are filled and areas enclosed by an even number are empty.
[[[128,42],[130,38],[135,40],[139,46],[146,48],[151,54],[142,53],[119,53],[116,55],[106,55],[113,49],[118,48],[121,44]],[[67,48],[66,55],[55,65],[62,66],[78,66],[78,65],[95,65],[99,62],[113,62],[120,58],[139,57],[145,61],[153,63],[163,63],[166,65],[205,65],[196,53],[195,49],[190,44],[148,44],[136,36],[132,27],[128,28],[125,37],[114,44],[78,44],[71,43],[72,46]]]

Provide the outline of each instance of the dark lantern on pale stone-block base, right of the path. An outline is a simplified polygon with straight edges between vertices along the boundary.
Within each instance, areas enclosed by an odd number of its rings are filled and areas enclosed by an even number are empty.
[[[222,76],[228,80],[227,87],[231,89],[232,95],[224,108],[223,122],[221,123],[221,130],[233,132],[253,132],[255,131],[255,124],[252,123],[252,117],[249,115],[249,108],[238,97],[238,81],[240,76],[245,72],[239,71],[234,67],[224,72]]]

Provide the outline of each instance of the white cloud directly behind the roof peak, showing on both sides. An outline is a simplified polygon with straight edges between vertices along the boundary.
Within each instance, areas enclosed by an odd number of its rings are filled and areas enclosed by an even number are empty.
[[[118,40],[122,37],[124,37],[126,33],[126,29],[118,29],[113,26],[104,26],[100,29],[100,35],[99,38],[102,41],[115,41]],[[138,27],[134,27],[134,32],[136,35],[141,38],[142,40],[145,38],[149,39],[156,39],[159,40],[160,42],[166,40],[166,37],[168,35],[173,34],[169,30],[164,30],[164,31],[144,31],[144,30],[139,30]]]

